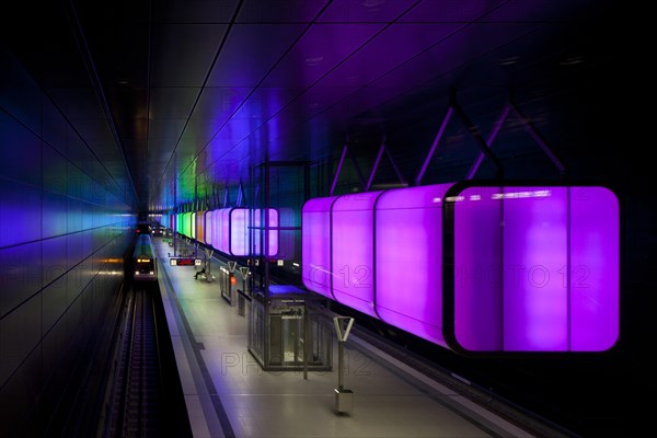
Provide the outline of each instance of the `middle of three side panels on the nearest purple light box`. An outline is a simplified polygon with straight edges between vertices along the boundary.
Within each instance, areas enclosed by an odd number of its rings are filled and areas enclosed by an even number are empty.
[[[332,208],[333,296],[376,316],[373,289],[373,209],[381,192],[338,197]]]

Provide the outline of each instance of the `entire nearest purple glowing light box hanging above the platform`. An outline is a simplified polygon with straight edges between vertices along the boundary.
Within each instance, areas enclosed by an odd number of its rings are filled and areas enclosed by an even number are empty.
[[[619,335],[619,230],[604,187],[476,182],[316,198],[302,211],[302,279],[462,353],[600,351]]]

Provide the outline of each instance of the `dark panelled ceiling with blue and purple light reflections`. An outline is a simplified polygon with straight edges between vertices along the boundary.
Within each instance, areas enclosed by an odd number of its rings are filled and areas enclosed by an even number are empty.
[[[111,177],[129,187],[135,208],[154,211],[188,199],[195,184],[237,185],[267,159],[324,159],[362,126],[397,138],[422,125],[435,131],[450,87],[464,100],[474,90],[481,103],[481,90],[577,67],[577,33],[608,2],[71,0],[12,8],[3,31],[10,49]]]

